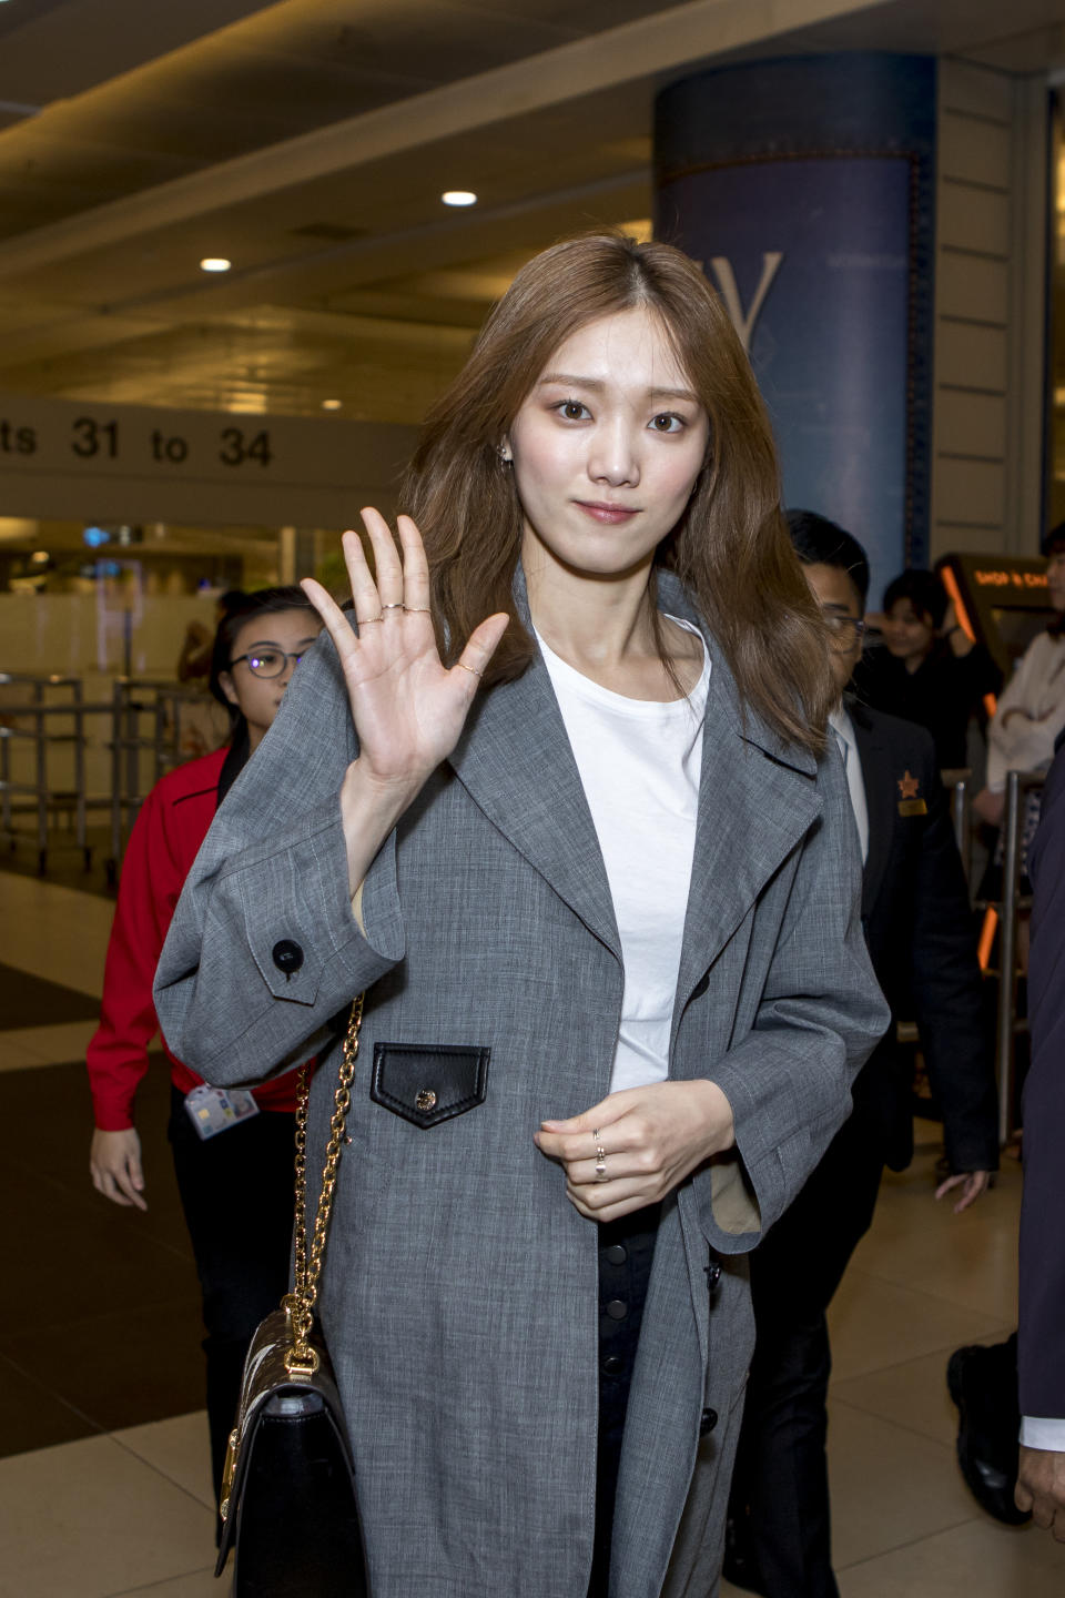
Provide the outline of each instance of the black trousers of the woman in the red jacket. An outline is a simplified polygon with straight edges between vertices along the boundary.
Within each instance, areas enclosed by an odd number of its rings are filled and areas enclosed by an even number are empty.
[[[177,1191],[203,1291],[216,1499],[247,1346],[289,1285],[294,1135],[294,1115],[260,1111],[201,1143],[182,1095],[171,1093]]]

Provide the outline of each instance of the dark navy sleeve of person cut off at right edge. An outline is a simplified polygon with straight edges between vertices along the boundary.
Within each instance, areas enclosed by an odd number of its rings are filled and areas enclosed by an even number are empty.
[[[1020,1413],[1065,1419],[1065,754],[1051,767],[1028,853],[1035,887],[1020,1206]]]

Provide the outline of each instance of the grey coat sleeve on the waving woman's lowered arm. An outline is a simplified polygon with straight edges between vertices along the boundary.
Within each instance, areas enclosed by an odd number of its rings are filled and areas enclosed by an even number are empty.
[[[703,1229],[744,1253],[784,1213],[851,1112],[851,1083],[891,1021],[861,924],[846,777],[821,762],[824,810],[800,858],[754,1023],[706,1075],[733,1109],[736,1151],[696,1173]]]

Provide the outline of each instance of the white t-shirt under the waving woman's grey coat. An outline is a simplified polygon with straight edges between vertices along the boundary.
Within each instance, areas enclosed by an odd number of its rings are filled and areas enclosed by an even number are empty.
[[[687,631],[698,631],[680,622]],[[688,911],[711,657],[688,698],[612,694],[538,636],[607,868],[624,959],[610,1091],[669,1074],[680,944]]]

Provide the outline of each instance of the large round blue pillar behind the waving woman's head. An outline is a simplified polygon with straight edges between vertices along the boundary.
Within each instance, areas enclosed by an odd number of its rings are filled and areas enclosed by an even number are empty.
[[[703,72],[655,107],[655,233],[703,264],[770,407],[784,503],[928,558],[936,61]]]

